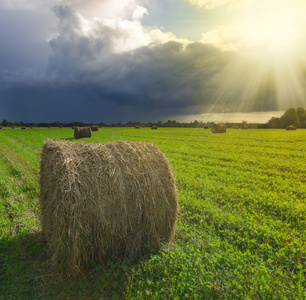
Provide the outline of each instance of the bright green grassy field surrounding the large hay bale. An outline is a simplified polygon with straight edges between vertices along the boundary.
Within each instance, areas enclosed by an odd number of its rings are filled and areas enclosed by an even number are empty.
[[[175,244],[134,263],[48,272],[39,164],[72,129],[0,130],[0,299],[305,299],[306,130],[105,128],[85,142],[146,141],[174,171]],[[77,142],[79,142],[78,140]]]

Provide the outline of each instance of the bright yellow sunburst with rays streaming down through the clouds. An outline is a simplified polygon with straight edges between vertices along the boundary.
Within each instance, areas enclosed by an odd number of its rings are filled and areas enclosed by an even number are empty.
[[[214,78],[219,89],[214,92],[216,102],[211,111],[221,106],[229,111],[262,111],[303,105],[306,4],[251,1],[233,15],[231,25],[223,30],[228,38],[230,28],[236,38],[233,56]],[[209,34],[205,38],[210,38]],[[226,38],[224,44],[218,40],[223,51],[229,48]]]

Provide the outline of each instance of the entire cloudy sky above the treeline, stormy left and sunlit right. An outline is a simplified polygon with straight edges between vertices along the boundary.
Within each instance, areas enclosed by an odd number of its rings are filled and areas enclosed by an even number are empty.
[[[0,0],[0,121],[267,122],[306,107],[305,25],[303,0]]]

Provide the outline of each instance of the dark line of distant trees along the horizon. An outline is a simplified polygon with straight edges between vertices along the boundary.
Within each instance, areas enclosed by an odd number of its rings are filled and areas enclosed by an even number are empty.
[[[125,124],[118,122],[118,123],[110,123],[106,124],[103,122],[100,123],[83,123],[83,122],[50,122],[50,123],[24,123],[23,121],[20,122],[9,122],[7,120],[3,120],[1,125],[5,127],[13,127],[13,126],[21,126],[21,127],[72,127],[72,126],[92,126],[98,125],[99,127],[135,127],[135,126],[143,126],[143,127],[151,127],[151,126],[158,126],[158,127],[185,127],[185,128],[203,128],[203,127],[211,127],[215,122],[203,122],[197,121],[190,123],[180,123],[175,120],[168,120],[166,122],[158,121],[158,122],[147,122],[142,123],[138,121],[129,121]],[[233,127],[241,127],[241,126],[248,126],[248,128],[286,128],[289,125],[295,125],[297,128],[306,128],[306,110],[302,107],[297,109],[289,108],[280,118],[271,118],[268,123],[248,123],[247,121],[242,121],[240,123],[237,122],[226,122],[224,123],[227,128]]]

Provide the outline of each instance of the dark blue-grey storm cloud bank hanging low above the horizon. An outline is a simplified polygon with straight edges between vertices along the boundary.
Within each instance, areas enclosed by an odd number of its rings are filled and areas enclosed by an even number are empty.
[[[118,41],[130,39],[124,24],[97,21],[86,34],[71,7],[54,12],[58,35],[49,41],[45,73],[2,72],[7,88],[1,95],[11,118],[155,120],[209,104],[203,89],[218,71],[216,61],[226,59],[216,48],[168,42],[116,52]]]

